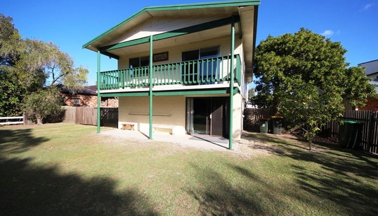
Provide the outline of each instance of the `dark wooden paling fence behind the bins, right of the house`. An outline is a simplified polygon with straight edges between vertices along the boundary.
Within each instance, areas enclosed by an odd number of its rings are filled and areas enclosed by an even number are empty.
[[[259,119],[270,118],[274,114],[273,109],[244,109],[243,129],[247,131],[259,131]],[[374,111],[344,111],[342,117],[330,121],[321,127],[320,135],[329,138],[338,138],[339,121],[362,122],[362,136],[360,146],[363,150],[378,153],[378,114]]]

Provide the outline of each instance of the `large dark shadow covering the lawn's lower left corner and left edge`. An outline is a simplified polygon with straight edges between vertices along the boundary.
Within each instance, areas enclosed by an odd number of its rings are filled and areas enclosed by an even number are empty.
[[[48,140],[31,129],[0,130],[0,214],[158,215],[137,188],[118,191],[109,177],[84,178],[14,156]]]

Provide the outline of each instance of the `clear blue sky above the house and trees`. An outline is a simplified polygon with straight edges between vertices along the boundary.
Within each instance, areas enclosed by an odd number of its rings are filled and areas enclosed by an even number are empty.
[[[132,2],[133,4],[130,4]],[[208,2],[166,1],[15,1],[2,4],[23,37],[57,44],[75,64],[86,66],[88,84],[96,80],[96,53],[81,46],[146,6]],[[352,66],[378,59],[378,0],[262,0],[257,44],[268,35],[294,33],[301,27],[340,41]],[[101,71],[116,69],[116,60],[102,56]]]

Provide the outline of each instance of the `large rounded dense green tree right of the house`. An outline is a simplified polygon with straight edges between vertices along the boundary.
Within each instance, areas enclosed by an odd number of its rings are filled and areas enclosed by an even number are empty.
[[[344,104],[363,105],[374,86],[359,67],[348,67],[340,42],[310,30],[268,36],[256,49],[255,75],[260,107],[276,109],[290,127],[303,129],[309,141],[339,117]]]

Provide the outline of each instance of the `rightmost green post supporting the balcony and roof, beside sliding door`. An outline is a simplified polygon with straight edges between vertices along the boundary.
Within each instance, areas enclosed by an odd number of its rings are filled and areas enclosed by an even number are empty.
[[[229,134],[228,134],[228,149],[233,150],[232,148],[232,136],[233,136],[233,130],[232,130],[232,116],[233,116],[233,51],[235,47],[235,20],[232,16],[231,20],[231,62],[230,62],[230,104],[229,104]]]

